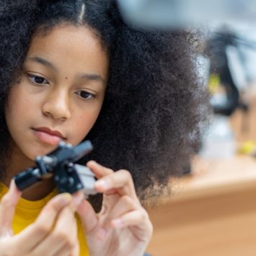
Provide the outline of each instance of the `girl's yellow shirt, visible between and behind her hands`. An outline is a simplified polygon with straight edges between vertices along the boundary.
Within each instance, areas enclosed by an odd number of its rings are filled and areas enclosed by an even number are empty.
[[[0,200],[2,196],[8,191],[8,187],[6,187],[5,185],[1,185],[1,187],[3,187],[3,189],[0,190]],[[24,198],[20,198],[17,204],[14,219],[12,221],[12,229],[14,231],[14,234],[19,233],[20,231],[25,229],[26,226],[32,224],[37,218],[40,211],[46,205],[48,200],[50,200],[50,198],[53,198],[53,196],[56,194],[57,194],[57,191],[53,190],[53,192],[51,192],[45,198],[41,200],[36,200],[36,201],[30,201]],[[77,232],[78,232],[79,245],[80,245],[79,255],[89,256],[87,242],[84,237],[84,230],[78,216],[76,216],[76,222],[77,222]]]

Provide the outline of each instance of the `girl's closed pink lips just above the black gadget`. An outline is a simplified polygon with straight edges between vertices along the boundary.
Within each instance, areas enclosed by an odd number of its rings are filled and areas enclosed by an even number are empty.
[[[32,131],[45,144],[58,145],[60,141],[65,139],[60,131],[53,131],[48,127],[32,128]]]

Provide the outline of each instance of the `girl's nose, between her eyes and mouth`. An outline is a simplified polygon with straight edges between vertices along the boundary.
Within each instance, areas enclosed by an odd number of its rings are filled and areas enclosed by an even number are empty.
[[[56,119],[66,120],[70,118],[69,95],[61,90],[50,91],[43,102],[43,114]]]

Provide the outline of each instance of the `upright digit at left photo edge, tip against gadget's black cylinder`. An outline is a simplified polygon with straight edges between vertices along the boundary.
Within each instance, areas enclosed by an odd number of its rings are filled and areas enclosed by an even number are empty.
[[[21,195],[22,193],[18,190],[14,180],[12,180],[9,191],[3,196],[0,203],[0,235],[12,231],[15,206]]]

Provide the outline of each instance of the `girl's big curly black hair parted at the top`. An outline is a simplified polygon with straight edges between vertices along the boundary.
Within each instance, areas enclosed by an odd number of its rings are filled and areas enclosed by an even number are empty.
[[[158,195],[200,145],[208,99],[195,69],[198,37],[126,25],[114,0],[1,1],[1,163],[9,151],[4,105],[12,80],[32,35],[60,23],[91,27],[110,56],[105,100],[86,137],[94,145],[88,157],[128,169],[141,199]]]

